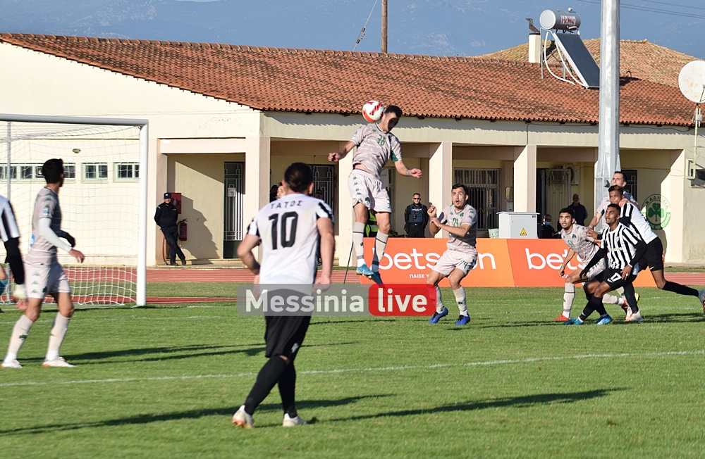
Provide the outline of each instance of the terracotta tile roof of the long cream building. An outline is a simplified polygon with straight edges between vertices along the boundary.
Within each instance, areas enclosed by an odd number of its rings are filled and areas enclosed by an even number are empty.
[[[412,56],[7,33],[0,34],[0,42],[263,111],[360,113],[364,101],[379,99],[419,117],[597,122],[599,114],[598,91],[553,77],[542,80],[538,64],[502,56]],[[649,62],[661,62],[664,54]],[[621,80],[622,122],[690,125],[692,104],[677,87],[638,78],[633,70]]]

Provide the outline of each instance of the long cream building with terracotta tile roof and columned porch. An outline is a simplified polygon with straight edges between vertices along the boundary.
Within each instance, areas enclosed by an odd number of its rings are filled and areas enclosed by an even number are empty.
[[[424,171],[417,181],[388,165],[393,208],[414,192],[446,205],[448,185],[462,181],[481,234],[496,227],[498,211],[555,214],[576,192],[594,209],[599,92],[542,79],[539,64],[32,34],[0,34],[0,58],[6,113],[149,120],[150,203],[166,189],[183,194],[192,259],[233,257],[271,184],[286,165],[305,161],[335,210],[344,262],[352,159],[333,164],[327,154],[362,124],[369,99],[403,109],[394,133],[405,164]],[[672,217],[661,235],[670,261],[705,260],[705,238],[683,232],[705,224],[685,212],[703,192],[684,174],[692,113],[672,84],[621,78],[623,169],[637,199],[668,199]],[[147,259],[158,263],[158,228],[147,224]],[[403,231],[403,213],[392,226]]]

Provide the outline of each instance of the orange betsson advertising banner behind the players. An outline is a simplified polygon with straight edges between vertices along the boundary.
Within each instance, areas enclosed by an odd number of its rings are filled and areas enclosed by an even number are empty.
[[[385,284],[416,284],[426,282],[436,261],[446,251],[448,239],[390,238],[379,264],[379,274]],[[364,239],[367,265],[372,264],[374,239]],[[465,287],[562,287],[565,279],[558,274],[568,246],[560,239],[477,239],[477,265],[462,281]],[[582,269],[584,264],[575,256],[566,273]],[[372,281],[361,277],[363,284]],[[448,279],[441,281],[448,287]],[[639,273],[635,287],[655,287],[651,273]]]

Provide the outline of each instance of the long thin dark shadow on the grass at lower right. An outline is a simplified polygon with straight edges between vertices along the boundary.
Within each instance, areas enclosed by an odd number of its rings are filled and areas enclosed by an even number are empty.
[[[331,419],[329,422],[376,419],[379,417],[428,415],[434,413],[450,413],[453,411],[486,410],[487,408],[528,408],[533,405],[575,403],[577,401],[590,400],[591,398],[608,396],[613,391],[623,390],[625,389],[596,389],[594,391],[570,392],[566,394],[537,394],[519,397],[493,398],[482,401],[468,401],[465,403],[453,403],[452,405],[441,405],[436,408],[428,409],[388,411],[386,413],[376,413],[374,415],[339,417],[337,419]]]

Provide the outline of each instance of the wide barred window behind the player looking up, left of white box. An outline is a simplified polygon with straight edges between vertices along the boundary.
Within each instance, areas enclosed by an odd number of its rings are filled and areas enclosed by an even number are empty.
[[[501,169],[455,168],[454,183],[465,184],[470,192],[467,202],[477,211],[478,230],[489,230],[499,225],[497,213],[501,172]]]

